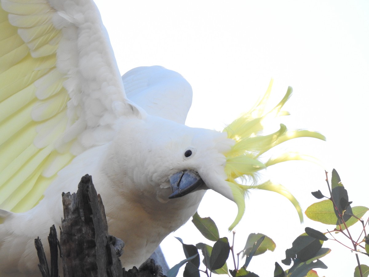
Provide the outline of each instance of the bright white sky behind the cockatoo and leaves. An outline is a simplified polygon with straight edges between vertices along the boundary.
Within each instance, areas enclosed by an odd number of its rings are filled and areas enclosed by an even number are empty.
[[[320,189],[328,195],[324,169],[336,168],[352,205],[369,206],[368,1],[96,3],[121,74],[137,66],[162,65],[190,82],[194,96],[189,126],[222,130],[255,103],[270,78],[275,79],[276,102],[292,86],[294,95],[286,105],[292,115],[284,123],[291,129],[318,130],[327,142],[297,139],[281,147],[315,155],[324,168],[289,162],[268,169],[268,176],[290,189],[305,211],[316,200],[311,191]],[[232,202],[207,192],[199,214],[211,216],[221,236],[231,239],[227,227],[236,215]],[[272,237],[275,252],[254,257],[248,267],[260,276],[272,276],[275,261],[284,259],[284,251],[306,226],[323,232],[327,228],[307,218],[300,225],[293,206],[282,196],[254,191],[236,228],[236,249],[244,247],[249,233]],[[204,240],[197,234],[189,222],[165,239],[169,266],[184,259],[174,236],[196,244]],[[323,247],[332,252],[322,259],[328,270],[318,270],[319,275],[352,276],[357,265],[354,254],[333,241]],[[369,264],[368,257],[360,258]]]

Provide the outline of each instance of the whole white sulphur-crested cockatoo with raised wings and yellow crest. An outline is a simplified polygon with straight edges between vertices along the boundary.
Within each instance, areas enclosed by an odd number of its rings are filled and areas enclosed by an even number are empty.
[[[298,207],[280,185],[239,178],[303,158],[262,162],[276,144],[324,138],[283,124],[264,134],[263,121],[286,114],[281,108],[292,91],[266,111],[270,88],[223,132],[190,128],[190,85],[159,66],[133,69],[122,81],[91,0],[1,0],[0,276],[39,276],[34,239],[45,242],[49,227],[61,224],[61,194],[76,192],[86,173],[109,233],[125,242],[126,268],[139,266],[183,225],[205,189],[237,204],[230,228],[251,187],[277,191]]]

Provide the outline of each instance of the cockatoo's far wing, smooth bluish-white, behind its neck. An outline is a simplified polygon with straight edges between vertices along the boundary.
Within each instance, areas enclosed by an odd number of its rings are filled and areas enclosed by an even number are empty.
[[[122,76],[127,98],[148,114],[184,124],[192,88],[179,73],[162,66],[142,66]]]

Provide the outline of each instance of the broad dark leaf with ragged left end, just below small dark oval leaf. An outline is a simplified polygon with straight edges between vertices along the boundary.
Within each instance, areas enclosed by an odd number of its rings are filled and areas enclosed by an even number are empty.
[[[307,261],[313,258],[321,247],[320,240],[304,233],[293,241],[292,248],[286,250],[286,259],[282,260],[282,263],[289,266],[295,259],[299,259],[300,262]]]

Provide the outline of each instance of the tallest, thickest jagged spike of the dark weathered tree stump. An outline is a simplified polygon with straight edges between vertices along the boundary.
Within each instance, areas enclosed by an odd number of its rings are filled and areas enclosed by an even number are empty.
[[[104,205],[91,176],[82,177],[76,194],[68,192],[62,198],[64,277],[123,277],[121,262],[108,238]]]

